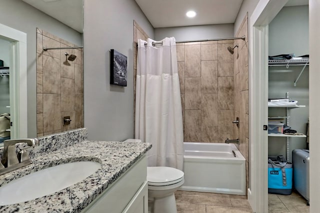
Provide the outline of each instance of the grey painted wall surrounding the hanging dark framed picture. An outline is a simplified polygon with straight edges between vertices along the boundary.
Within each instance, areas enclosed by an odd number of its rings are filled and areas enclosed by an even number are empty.
[[[84,0],[84,127],[90,140],[133,136],[133,20],[153,37],[134,0]],[[127,86],[109,84],[109,50],[127,56]]]

